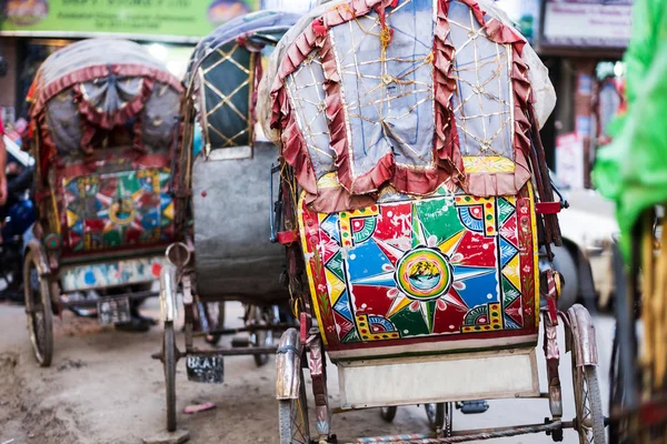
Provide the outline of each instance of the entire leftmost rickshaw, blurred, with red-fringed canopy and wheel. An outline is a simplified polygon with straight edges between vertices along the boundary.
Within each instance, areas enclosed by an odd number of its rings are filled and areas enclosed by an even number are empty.
[[[170,159],[181,90],[125,40],[72,43],[39,69],[29,94],[38,221],[23,282],[40,365],[51,363],[53,315],[97,309],[100,323],[123,324],[157,296],[151,284],[176,234]]]

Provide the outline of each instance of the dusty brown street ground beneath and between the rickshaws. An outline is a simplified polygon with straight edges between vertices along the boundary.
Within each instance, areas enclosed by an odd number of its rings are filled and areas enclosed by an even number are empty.
[[[158,314],[156,301],[149,305]],[[231,313],[230,313],[231,312]],[[240,305],[228,311],[228,323],[239,323]],[[140,443],[163,427],[165,383],[162,367],[150,354],[158,351],[161,329],[149,334],[119,333],[93,321],[66,315],[54,320],[56,355],[50,369],[39,369],[32,357],[22,307],[0,305],[0,443]],[[603,396],[607,396],[607,362],[613,320],[598,317],[598,342],[603,366]],[[182,344],[182,336],[178,336]],[[563,335],[559,337],[564,343]],[[181,345],[182,346],[182,345]],[[545,365],[540,355],[540,385],[545,390]],[[569,355],[561,360],[565,417],[574,417]],[[335,377],[335,367],[330,369]],[[442,375],[442,377],[447,377]],[[494,377],[489,369],[488,377]],[[275,367],[256,369],[249,356],[226,361],[226,382],[218,385],[189,383],[185,363],[177,375],[179,426],[191,432],[191,443],[277,443]],[[425,384],[430,383],[425,381]],[[337,383],[330,381],[334,401]],[[195,415],[180,413],[191,403],[213,402],[217,408]],[[606,401],[605,401],[606,404]],[[312,402],[310,404],[312,407]],[[606,405],[605,405],[606,410]],[[455,430],[541,423],[548,416],[545,400],[495,401],[482,415],[454,415]],[[392,425],[376,410],[335,416],[334,431],[345,442],[357,435],[427,431],[422,408],[399,408]],[[576,443],[566,432],[566,443]],[[511,437],[498,443],[549,443],[546,435]]]

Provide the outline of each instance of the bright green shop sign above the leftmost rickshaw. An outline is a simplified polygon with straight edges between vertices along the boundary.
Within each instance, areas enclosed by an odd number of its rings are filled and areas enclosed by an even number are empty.
[[[7,0],[2,36],[197,41],[259,0]]]

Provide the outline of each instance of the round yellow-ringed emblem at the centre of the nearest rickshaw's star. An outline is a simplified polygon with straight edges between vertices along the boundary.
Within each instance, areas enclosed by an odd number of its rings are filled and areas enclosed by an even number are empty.
[[[431,301],[450,289],[452,275],[451,264],[439,250],[418,246],[398,261],[394,279],[409,299]]]

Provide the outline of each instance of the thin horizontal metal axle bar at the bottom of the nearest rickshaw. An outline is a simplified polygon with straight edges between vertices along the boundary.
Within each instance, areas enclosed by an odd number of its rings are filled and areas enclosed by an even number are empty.
[[[545,424],[515,425],[508,427],[477,428],[469,431],[452,432],[451,436],[432,437],[426,434],[414,435],[388,435],[375,437],[358,437],[355,443],[410,443],[410,444],[445,444],[445,443],[467,443],[470,441],[497,440],[518,435],[529,435],[532,433],[551,433],[561,428],[574,428],[573,421],[554,421]]]

